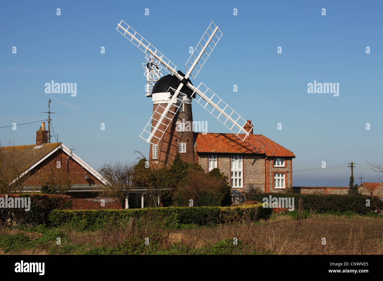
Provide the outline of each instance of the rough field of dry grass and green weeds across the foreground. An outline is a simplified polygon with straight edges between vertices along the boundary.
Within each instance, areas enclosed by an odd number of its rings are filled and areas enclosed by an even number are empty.
[[[296,219],[274,213],[266,221],[185,227],[173,229],[145,218],[131,227],[111,223],[97,231],[15,226],[0,229],[0,253],[383,254],[380,216],[313,214]]]

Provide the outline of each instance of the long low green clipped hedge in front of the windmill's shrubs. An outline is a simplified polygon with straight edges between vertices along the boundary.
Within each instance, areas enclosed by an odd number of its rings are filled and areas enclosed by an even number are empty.
[[[266,218],[270,208],[262,204],[241,207],[160,207],[142,209],[111,210],[52,210],[49,221],[53,226],[82,226],[83,229],[97,229],[110,222],[126,223],[129,218],[160,218],[167,224],[209,225],[240,221],[242,219]]]

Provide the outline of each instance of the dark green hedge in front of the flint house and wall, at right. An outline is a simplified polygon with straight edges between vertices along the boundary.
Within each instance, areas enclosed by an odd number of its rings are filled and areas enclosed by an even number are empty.
[[[298,201],[302,198],[303,210],[317,211],[318,213],[326,213],[327,211],[335,211],[344,213],[352,211],[357,214],[368,214],[375,211],[376,203],[383,210],[383,202],[378,197],[367,195],[317,195],[317,194],[299,194],[299,193],[246,193],[248,200],[256,200],[263,202],[263,198],[272,195],[272,197],[294,197],[295,209],[298,209]],[[366,200],[370,200],[370,206],[366,206]]]

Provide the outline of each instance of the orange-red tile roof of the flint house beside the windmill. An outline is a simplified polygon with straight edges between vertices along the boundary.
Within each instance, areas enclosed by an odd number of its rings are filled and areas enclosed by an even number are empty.
[[[235,134],[195,133],[195,140],[198,152],[256,153],[267,156],[295,157],[293,152],[264,135],[249,135],[242,142]]]

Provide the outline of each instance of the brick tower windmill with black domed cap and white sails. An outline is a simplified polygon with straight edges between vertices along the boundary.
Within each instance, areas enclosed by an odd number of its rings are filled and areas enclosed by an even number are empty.
[[[208,110],[239,139],[242,141],[246,139],[251,125],[205,84],[201,82],[198,87],[195,87],[189,79],[189,76],[196,78],[223,34],[213,21],[187,60],[186,74],[177,71],[177,67],[167,57],[123,20],[118,24],[116,30],[146,55],[147,63],[142,65],[146,68],[144,73],[147,77],[146,96],[153,98],[153,114],[140,135],[142,139],[151,143],[152,146],[156,146],[158,151],[162,150],[167,154],[175,146],[174,141],[177,142],[178,139],[180,144],[183,141],[182,138],[184,141],[194,141],[193,132],[185,132],[181,135],[173,134],[174,122],[172,122],[177,112],[180,114],[182,111],[185,112],[188,120],[192,121],[192,100]],[[163,69],[169,75],[162,76],[160,73]],[[162,77],[160,78],[160,76]],[[182,110],[184,106],[186,109]],[[170,137],[163,138],[165,133],[169,133]],[[175,136],[174,138],[172,138],[172,134]],[[192,142],[192,144],[194,143]],[[194,151],[191,150],[189,160],[194,161]]]

